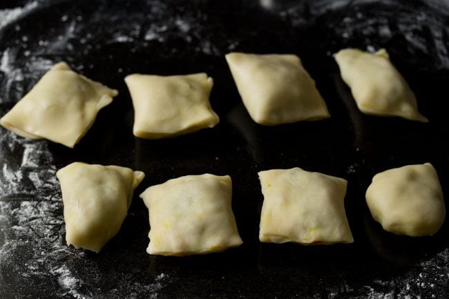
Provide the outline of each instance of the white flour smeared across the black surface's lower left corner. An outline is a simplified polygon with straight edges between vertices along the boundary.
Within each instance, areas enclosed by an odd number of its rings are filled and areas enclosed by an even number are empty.
[[[48,142],[0,127],[0,169],[0,287],[13,273],[16,287],[46,278],[59,286],[57,298],[99,298],[90,280],[101,280],[102,270],[85,251],[67,247],[64,240],[63,204]],[[79,276],[75,271],[86,263],[88,276]],[[132,278],[133,273],[117,276],[117,294],[108,289],[104,298],[157,298],[170,282],[164,273],[151,283],[133,285]]]

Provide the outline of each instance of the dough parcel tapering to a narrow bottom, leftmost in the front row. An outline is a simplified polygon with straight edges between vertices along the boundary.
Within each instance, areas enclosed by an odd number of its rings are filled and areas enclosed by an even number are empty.
[[[142,171],[121,166],[74,162],[61,168],[66,241],[99,252],[120,230]]]

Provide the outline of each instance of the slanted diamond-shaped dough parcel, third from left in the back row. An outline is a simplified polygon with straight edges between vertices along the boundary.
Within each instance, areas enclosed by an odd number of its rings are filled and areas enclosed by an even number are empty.
[[[254,122],[272,126],[330,117],[298,56],[233,52],[226,59]]]

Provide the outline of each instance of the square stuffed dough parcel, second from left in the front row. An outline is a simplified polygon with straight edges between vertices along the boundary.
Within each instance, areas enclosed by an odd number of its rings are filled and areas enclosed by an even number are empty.
[[[231,210],[229,175],[187,175],[140,195],[149,209],[150,243],[158,255],[223,251],[242,244]]]

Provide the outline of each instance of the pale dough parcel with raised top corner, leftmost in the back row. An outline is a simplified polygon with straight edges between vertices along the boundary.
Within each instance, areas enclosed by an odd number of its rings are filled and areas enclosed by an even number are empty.
[[[111,104],[117,90],[55,64],[0,119],[8,130],[26,138],[45,138],[73,148],[87,133],[98,111]]]

